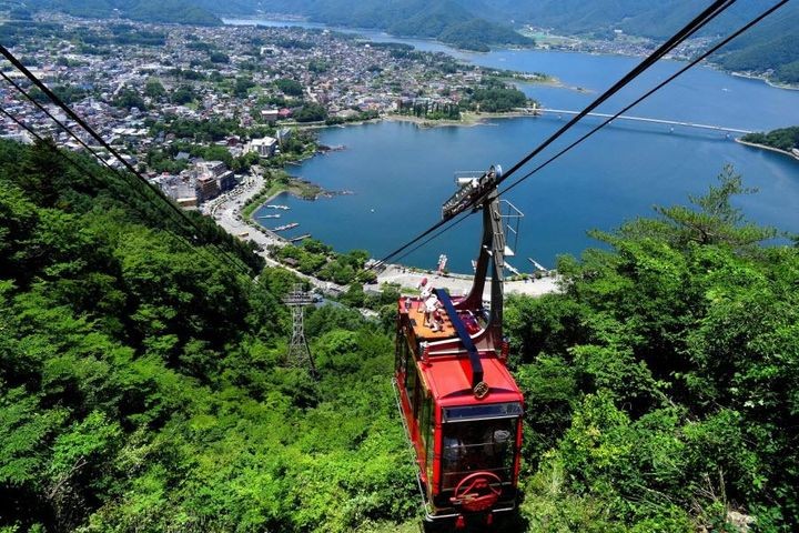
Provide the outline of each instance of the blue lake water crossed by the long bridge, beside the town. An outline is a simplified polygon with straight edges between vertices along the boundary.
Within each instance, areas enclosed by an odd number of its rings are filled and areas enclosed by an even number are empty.
[[[429,41],[361,33],[373,40],[445,51],[487,67],[546,72],[567,86],[589,91],[519,86],[545,107],[558,109],[584,108],[639,61],[534,50],[467,53]],[[600,111],[615,112],[681,64],[657,64]],[[768,130],[799,124],[799,91],[699,68],[627,114]],[[574,128],[568,139],[562,138],[547,153],[555,153],[585,133],[596,120],[588,119],[585,125]],[[353,194],[314,202],[282,197],[276,203],[290,205],[291,211],[281,212],[279,220],[300,222],[287,237],[312,233],[337,250],[360,248],[382,257],[438,220],[442,202],[454,192],[455,171],[485,170],[494,163],[509,168],[562,124],[563,120],[550,117],[492,120],[471,128],[419,129],[409,123],[381,122],[323,130],[322,143],[343,144],[346,149],[289,170],[325,189]],[[547,153],[534,162],[544,161]],[[759,189],[758,194],[737,201],[750,220],[799,232],[799,161],[739,145],[722,133],[679,127],[670,132],[666,125],[619,123],[504,197],[525,213],[517,257],[509,262],[529,271],[527,258],[552,266],[558,254],[579,254],[596,245],[586,231],[609,230],[625,220],[651,215],[655,204],[686,203],[688,194],[706,191],[727,163],[744,175],[746,185]],[[479,243],[478,219],[472,217],[402,262],[433,268],[438,254],[446,253],[452,270],[471,271],[469,261]]]

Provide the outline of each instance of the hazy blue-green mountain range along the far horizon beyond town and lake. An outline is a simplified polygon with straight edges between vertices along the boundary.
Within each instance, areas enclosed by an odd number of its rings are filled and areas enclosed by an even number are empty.
[[[314,22],[374,28],[404,37],[438,39],[458,48],[527,46],[513,28],[533,24],[566,34],[613,37],[614,30],[664,39],[707,6],[705,0],[0,0],[82,17],[121,14],[133,20],[219,24],[219,16],[285,13]],[[704,30],[726,34],[765,9],[738,2]],[[734,41],[714,61],[734,71],[799,83],[799,2],[790,2]]]

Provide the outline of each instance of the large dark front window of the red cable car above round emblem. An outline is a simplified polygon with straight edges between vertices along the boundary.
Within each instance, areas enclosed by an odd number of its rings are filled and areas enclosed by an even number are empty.
[[[454,489],[474,472],[492,472],[503,482],[513,481],[517,425],[516,418],[444,424],[442,490]]]

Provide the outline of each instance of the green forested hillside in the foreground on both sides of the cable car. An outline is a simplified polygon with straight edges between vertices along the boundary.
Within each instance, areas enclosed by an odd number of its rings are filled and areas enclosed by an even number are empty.
[[[0,142],[0,532],[413,531],[392,305],[310,310],[314,383],[283,364],[291,274],[80,165]],[[522,530],[799,527],[799,248],[740,192],[726,171],[507,302]]]

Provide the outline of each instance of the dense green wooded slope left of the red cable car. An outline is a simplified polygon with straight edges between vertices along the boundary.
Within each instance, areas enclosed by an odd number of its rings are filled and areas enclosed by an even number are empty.
[[[321,381],[285,369],[295,280],[252,282],[82,164],[97,179],[51,145],[0,143],[0,531],[345,532],[412,516],[383,326],[315,310]]]

